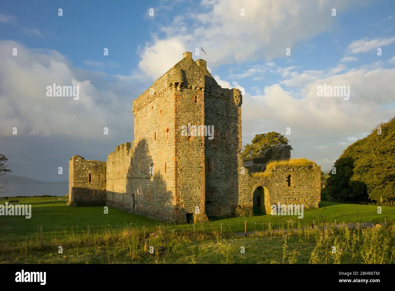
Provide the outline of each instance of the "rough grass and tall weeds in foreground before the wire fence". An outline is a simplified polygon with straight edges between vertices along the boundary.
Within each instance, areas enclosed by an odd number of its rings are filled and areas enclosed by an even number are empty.
[[[2,263],[393,263],[395,227],[352,230],[334,224],[287,231],[257,232],[248,238],[233,233],[203,231],[151,232],[125,227],[118,233],[45,243],[26,240],[3,244]],[[59,247],[62,253],[59,253]],[[152,251],[150,253],[150,247]],[[333,248],[335,247],[335,252]],[[244,251],[243,251],[244,250]]]

